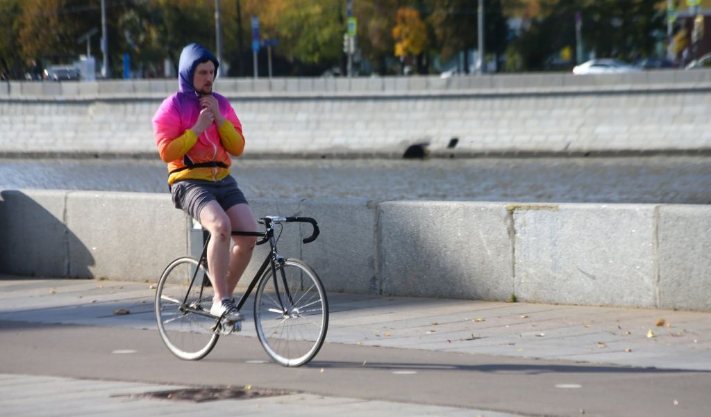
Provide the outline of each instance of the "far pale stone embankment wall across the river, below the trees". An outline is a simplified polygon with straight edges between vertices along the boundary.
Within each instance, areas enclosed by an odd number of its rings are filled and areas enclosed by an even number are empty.
[[[176,80],[0,83],[0,154],[151,154]],[[711,70],[461,78],[218,80],[245,157],[711,149]],[[456,138],[456,146],[451,147]]]

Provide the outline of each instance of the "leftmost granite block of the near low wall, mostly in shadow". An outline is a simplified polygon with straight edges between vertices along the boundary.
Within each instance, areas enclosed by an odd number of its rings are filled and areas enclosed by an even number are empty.
[[[0,191],[2,273],[68,275],[68,244],[77,238],[64,225],[65,196],[54,190]]]

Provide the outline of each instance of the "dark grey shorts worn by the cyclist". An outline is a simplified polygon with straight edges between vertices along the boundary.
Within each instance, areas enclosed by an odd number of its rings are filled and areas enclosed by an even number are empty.
[[[200,221],[200,211],[210,201],[217,201],[224,211],[237,204],[247,204],[245,194],[237,187],[237,181],[225,176],[220,181],[183,179],[171,184],[173,205]]]

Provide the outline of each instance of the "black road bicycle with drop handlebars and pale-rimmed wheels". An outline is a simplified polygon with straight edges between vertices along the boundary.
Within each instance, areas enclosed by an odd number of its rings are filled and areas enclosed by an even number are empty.
[[[267,216],[260,218],[264,232],[232,231],[233,236],[261,237],[257,245],[269,242],[271,250],[237,302],[241,310],[255,290],[254,320],[257,337],[282,366],[301,366],[321,349],[328,330],[328,301],[318,275],[304,261],[282,258],[277,241],[282,223],[310,223],[313,232],[304,243],[319,236],[319,225],[309,217]],[[279,236],[274,227],[281,226]],[[166,347],[181,359],[198,360],[212,351],[221,335],[240,332],[241,322],[210,315],[213,290],[207,265],[210,236],[205,239],[199,260],[183,256],[164,270],[156,289],[156,321]]]

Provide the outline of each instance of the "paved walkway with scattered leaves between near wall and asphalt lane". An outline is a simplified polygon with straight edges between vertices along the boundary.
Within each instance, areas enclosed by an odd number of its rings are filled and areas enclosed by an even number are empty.
[[[148,283],[0,275],[0,320],[155,329],[154,293]],[[711,371],[707,312],[328,297],[327,343]],[[240,337],[255,336],[251,311]]]

